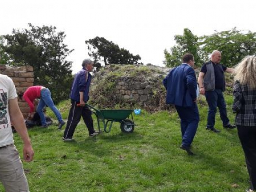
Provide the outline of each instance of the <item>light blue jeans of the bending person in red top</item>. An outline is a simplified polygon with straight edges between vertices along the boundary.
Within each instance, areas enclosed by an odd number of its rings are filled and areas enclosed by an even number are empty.
[[[55,116],[57,117],[58,121],[62,122],[63,119],[61,117],[60,111],[54,105],[52,98],[51,98],[51,92],[48,88],[44,88],[41,90],[41,98],[40,98],[40,101],[39,101],[39,103],[37,105],[37,109],[36,109],[36,111],[38,112],[38,114],[40,116],[42,125],[46,125],[46,120],[45,120],[44,111],[43,111],[43,109],[46,105],[52,109],[52,111],[55,114]]]

